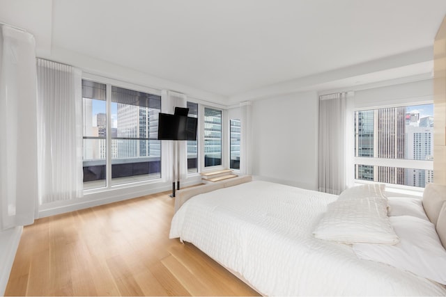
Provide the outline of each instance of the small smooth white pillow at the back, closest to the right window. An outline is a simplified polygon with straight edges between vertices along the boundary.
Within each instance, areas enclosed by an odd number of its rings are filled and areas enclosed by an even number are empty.
[[[422,200],[409,197],[388,197],[390,209],[388,216],[416,216],[424,220],[429,220],[424,212]]]

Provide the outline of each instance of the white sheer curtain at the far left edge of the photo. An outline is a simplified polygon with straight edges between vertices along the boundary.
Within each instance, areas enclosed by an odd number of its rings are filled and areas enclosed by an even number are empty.
[[[0,25],[0,230],[36,214],[35,47],[33,35]]]

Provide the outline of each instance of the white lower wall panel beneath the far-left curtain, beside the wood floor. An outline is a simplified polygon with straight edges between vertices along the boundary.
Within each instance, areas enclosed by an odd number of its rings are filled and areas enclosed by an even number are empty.
[[[0,232],[0,296],[5,295],[22,231],[23,226],[17,226]]]

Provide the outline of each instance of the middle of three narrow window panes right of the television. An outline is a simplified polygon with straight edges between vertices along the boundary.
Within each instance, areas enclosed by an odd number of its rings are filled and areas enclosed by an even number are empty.
[[[204,108],[204,166],[222,165],[222,111]]]

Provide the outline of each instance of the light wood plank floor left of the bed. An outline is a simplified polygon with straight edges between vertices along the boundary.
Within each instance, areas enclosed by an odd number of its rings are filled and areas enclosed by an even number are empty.
[[[169,239],[169,192],[24,227],[6,296],[258,296],[190,243]]]

